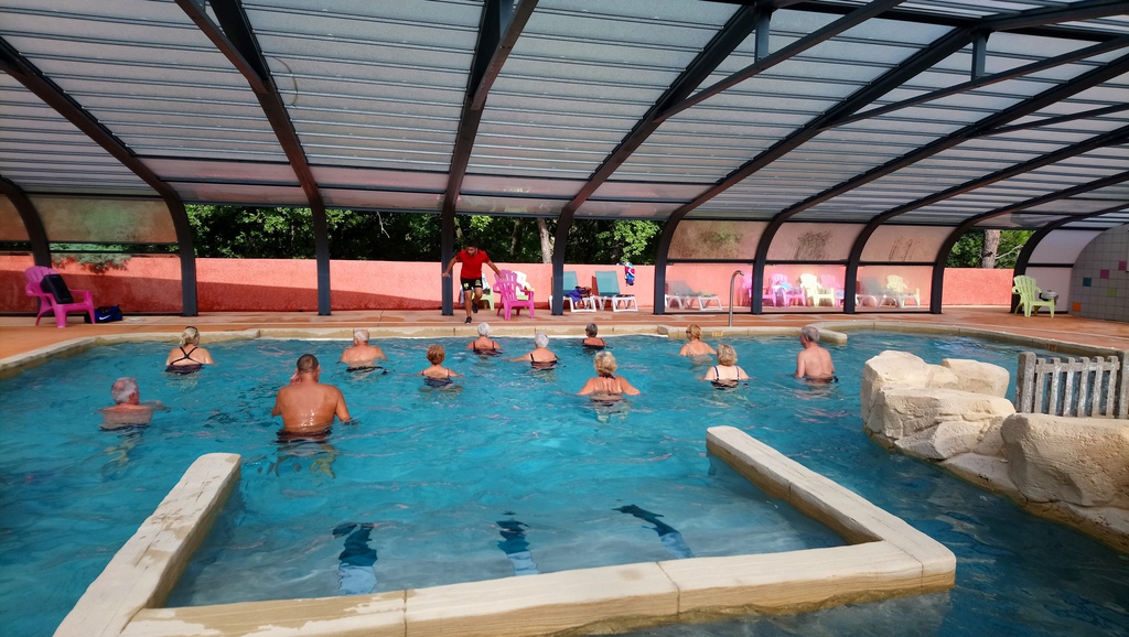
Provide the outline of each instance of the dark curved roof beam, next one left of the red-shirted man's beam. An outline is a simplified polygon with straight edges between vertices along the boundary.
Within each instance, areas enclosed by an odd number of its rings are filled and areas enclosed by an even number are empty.
[[[309,201],[314,218],[314,250],[317,262],[317,314],[329,316],[330,294],[330,241],[329,222],[325,218],[325,201],[314,180],[314,173],[306,159],[298,131],[290,121],[290,113],[282,102],[278,86],[271,76],[270,66],[263,56],[259,41],[251,28],[251,20],[239,0],[211,0],[216,24],[199,0],[176,0],[176,5],[195,23],[196,27],[219,50],[247,80],[255,94],[274,137],[290,162],[290,168]]]

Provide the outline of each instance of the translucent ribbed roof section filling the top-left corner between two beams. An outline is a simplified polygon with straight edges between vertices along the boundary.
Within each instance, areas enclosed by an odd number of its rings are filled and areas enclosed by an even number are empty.
[[[134,154],[285,160],[246,80],[174,2],[5,5],[0,35]]]

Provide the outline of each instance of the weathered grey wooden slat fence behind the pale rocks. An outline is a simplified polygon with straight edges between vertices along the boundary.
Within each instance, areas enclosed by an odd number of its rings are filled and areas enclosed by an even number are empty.
[[[1019,355],[1015,410],[1077,418],[1126,418],[1129,411],[1129,351],[1094,358]]]

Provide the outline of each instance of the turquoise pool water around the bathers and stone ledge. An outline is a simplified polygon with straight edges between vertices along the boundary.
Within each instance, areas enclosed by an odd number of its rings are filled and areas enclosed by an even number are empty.
[[[842,383],[788,377],[794,339],[732,341],[754,377],[721,392],[681,343],[615,339],[644,395],[597,415],[571,395],[590,357],[564,339],[553,372],[479,358],[441,340],[462,391],[422,387],[428,342],[382,342],[386,375],[355,376],[341,341],[216,343],[202,375],[160,373],[167,348],[95,348],[0,383],[0,621],[46,635],[195,456],[235,452],[243,481],[172,603],[341,594],[680,555],[767,552],[841,541],[726,470],[704,428],[732,425],[854,489],[949,547],[951,592],[779,618],[667,626],[638,635],[1119,635],[1129,626],[1129,560],[925,463],[872,444],[858,372],[883,349],[931,363],[975,358],[1014,373],[1017,348],[970,339],[855,333],[832,346]],[[508,354],[530,339],[500,339]],[[575,342],[575,341],[572,341]],[[332,448],[274,442],[274,392],[313,351],[356,425]],[[98,430],[108,386],[133,375],[173,408],[134,433]],[[606,417],[606,418],[602,418]],[[606,420],[606,421],[605,421]],[[469,494],[469,496],[467,496]],[[272,501],[286,503],[273,507]],[[662,515],[657,517],[656,515]],[[742,533],[729,532],[733,525]],[[611,559],[612,561],[605,561]]]

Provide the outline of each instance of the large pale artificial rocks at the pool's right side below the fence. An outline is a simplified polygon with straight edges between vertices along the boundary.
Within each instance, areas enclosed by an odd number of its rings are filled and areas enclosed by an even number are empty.
[[[1015,413],[1008,379],[997,365],[884,351],[863,369],[865,430],[1129,552],[1129,421]]]

